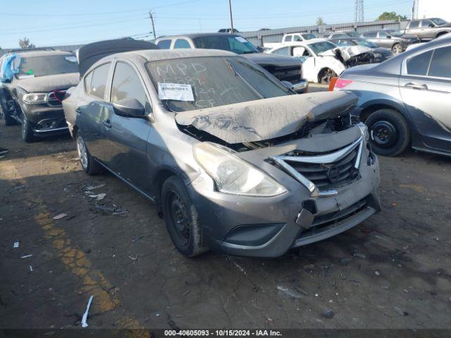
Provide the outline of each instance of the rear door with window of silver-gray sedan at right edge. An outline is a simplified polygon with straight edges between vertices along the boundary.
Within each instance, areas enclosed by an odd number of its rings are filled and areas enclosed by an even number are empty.
[[[451,151],[451,45],[404,61],[400,92],[424,144]]]

